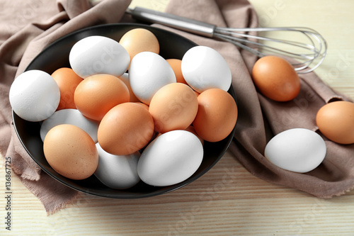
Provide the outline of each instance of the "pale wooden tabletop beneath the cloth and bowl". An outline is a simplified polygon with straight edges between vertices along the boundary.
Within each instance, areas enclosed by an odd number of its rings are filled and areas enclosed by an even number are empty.
[[[169,0],[134,0],[164,11]],[[316,72],[354,99],[354,1],[251,0],[261,26],[308,26],[329,44]],[[354,158],[354,157],[353,157]],[[354,192],[319,199],[269,184],[227,154],[205,176],[163,196],[137,200],[80,193],[47,216],[42,203],[12,176],[12,230],[5,230],[5,168],[0,169],[0,235],[354,235]]]

